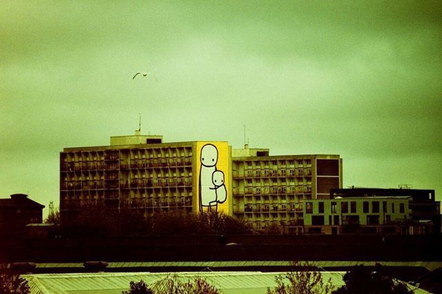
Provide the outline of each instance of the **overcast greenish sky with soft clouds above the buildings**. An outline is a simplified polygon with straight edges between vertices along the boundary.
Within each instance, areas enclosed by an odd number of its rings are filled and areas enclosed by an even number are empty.
[[[130,2],[130,3],[128,3]],[[344,186],[442,199],[439,1],[2,1],[0,197],[58,205],[111,135],[343,157]],[[135,72],[153,72],[137,77]]]

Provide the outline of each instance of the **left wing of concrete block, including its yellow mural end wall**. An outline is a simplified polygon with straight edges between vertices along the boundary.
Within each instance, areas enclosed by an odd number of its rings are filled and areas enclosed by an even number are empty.
[[[213,154],[204,159],[207,149]],[[211,162],[202,164],[209,156]],[[216,197],[222,190],[228,196],[231,190],[230,164],[231,148],[225,141],[162,143],[161,136],[135,135],[111,137],[110,146],[64,148],[60,153],[61,219],[72,219],[97,204],[146,214],[208,209],[200,207],[200,199]],[[214,170],[222,172],[220,186],[212,185]],[[222,203],[212,202],[210,208],[231,215],[231,197],[225,198]]]

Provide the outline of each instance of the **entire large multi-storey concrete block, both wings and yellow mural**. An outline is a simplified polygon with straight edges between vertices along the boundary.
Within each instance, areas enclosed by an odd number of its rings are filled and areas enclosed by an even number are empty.
[[[111,137],[109,146],[60,153],[61,221],[93,205],[109,209],[215,209],[256,231],[302,233],[302,204],[342,188],[339,155],[269,155],[227,141],[164,143],[162,136]]]

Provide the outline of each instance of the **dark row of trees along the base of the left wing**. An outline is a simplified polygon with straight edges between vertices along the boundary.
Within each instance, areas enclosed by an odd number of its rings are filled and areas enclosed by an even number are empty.
[[[148,235],[244,235],[251,229],[224,213],[166,211],[154,215],[142,212],[90,208],[70,222],[62,222],[64,236],[148,236]]]

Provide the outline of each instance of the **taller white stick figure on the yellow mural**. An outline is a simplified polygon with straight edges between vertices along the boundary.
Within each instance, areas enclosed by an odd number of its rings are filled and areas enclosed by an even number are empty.
[[[215,185],[212,175],[216,171],[218,162],[218,149],[213,144],[206,144],[201,148],[201,167],[200,167],[200,211],[204,207],[211,209],[218,205],[216,199]]]

